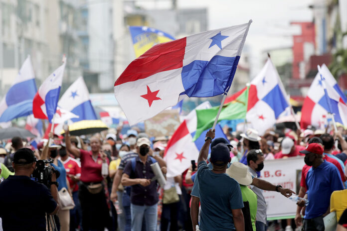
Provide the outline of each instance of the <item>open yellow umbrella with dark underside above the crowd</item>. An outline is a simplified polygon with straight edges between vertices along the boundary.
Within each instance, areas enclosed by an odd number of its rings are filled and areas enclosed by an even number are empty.
[[[109,127],[101,120],[81,120],[69,125],[71,135],[86,135],[107,130]],[[63,134],[64,130],[60,132]]]

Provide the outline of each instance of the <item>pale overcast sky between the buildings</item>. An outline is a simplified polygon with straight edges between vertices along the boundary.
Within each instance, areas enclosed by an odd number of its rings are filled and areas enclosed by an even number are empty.
[[[170,6],[170,1],[166,0],[144,3],[142,6],[146,8]],[[310,4],[313,4],[313,0],[178,0],[179,8],[206,7],[208,29],[253,20],[245,43],[252,77],[263,65],[264,50],[292,46],[292,35],[300,31],[290,26],[291,21],[312,21]]]

